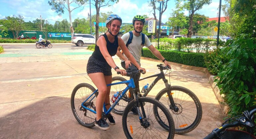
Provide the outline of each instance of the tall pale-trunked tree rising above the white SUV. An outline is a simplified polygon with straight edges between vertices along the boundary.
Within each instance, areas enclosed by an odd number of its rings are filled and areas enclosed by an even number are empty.
[[[69,23],[70,23],[70,30],[71,30],[71,35],[73,35],[74,33],[74,29],[73,29],[73,25],[72,25],[72,20],[71,20],[71,12],[76,9],[81,7],[82,5],[84,5],[88,0],[71,0],[71,2],[69,2],[69,0],[48,0],[48,4],[50,6],[52,6],[52,10],[55,10],[55,12],[57,14],[59,14],[59,16],[61,16],[62,14],[64,14],[64,9],[66,9],[68,11],[69,14]],[[74,7],[72,10],[70,9],[70,5],[72,3],[75,3],[77,5],[77,7]]]

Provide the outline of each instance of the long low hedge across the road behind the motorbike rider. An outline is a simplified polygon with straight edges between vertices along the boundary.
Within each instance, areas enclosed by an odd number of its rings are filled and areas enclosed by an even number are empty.
[[[71,40],[56,40],[56,39],[49,39],[51,43],[71,43]],[[21,40],[16,40],[16,39],[0,39],[0,43],[35,43],[38,41],[38,39],[33,40],[33,39],[21,39]]]

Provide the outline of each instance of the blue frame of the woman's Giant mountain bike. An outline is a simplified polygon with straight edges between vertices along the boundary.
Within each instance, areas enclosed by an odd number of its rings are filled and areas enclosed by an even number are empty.
[[[123,90],[123,92],[118,96],[118,98],[116,99],[116,101],[110,106],[110,108],[109,108],[108,110],[107,110],[107,108],[106,108],[106,106],[105,106],[105,102],[104,102],[103,110],[104,110],[105,115],[108,115],[108,114],[113,110],[113,108],[117,105],[117,103],[121,100],[121,98],[124,96],[124,94],[125,94],[130,88],[135,88],[135,83],[134,83],[133,78],[131,78],[130,80],[127,80],[127,81],[121,81],[121,82],[116,82],[116,83],[112,83],[112,84],[107,84],[107,86],[111,86],[111,85],[126,84],[126,83],[128,83],[127,87],[126,87],[126,88]],[[93,112],[94,114],[96,114],[96,111],[91,110],[91,109],[89,109],[89,108],[83,106],[83,104],[84,104],[88,99],[90,99],[97,91],[98,91],[98,89],[95,90],[95,91],[94,91],[85,101],[83,101],[82,104],[81,104],[81,106],[82,106],[84,109],[86,109],[86,110],[88,110],[88,111],[91,111],[91,112]],[[94,96],[90,99],[90,101],[93,100],[95,97],[96,97],[96,96],[94,95]]]

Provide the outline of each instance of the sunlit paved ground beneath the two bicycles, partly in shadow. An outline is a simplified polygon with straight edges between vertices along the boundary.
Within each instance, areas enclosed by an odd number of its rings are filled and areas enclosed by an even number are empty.
[[[81,82],[93,85],[86,73],[92,52],[86,47],[36,49],[32,45],[4,45],[4,50],[0,54],[0,138],[125,138],[121,116],[113,114],[116,124],[102,131],[81,126],[71,112],[70,95],[74,86]],[[113,58],[120,66],[120,60]],[[161,62],[141,62],[147,70],[142,77],[159,72],[156,65]],[[192,90],[203,108],[198,127],[185,135],[175,135],[175,138],[203,138],[223,122],[222,110],[204,73],[175,65],[172,68],[171,84]],[[113,76],[117,76],[114,71]],[[152,81],[143,80],[140,85]],[[154,98],[163,86],[159,81],[149,96]]]

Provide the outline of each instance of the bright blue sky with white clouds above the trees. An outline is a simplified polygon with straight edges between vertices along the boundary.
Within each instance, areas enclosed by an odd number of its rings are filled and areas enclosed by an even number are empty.
[[[71,1],[71,0],[70,0]],[[107,1],[107,0],[106,0]],[[101,7],[100,12],[107,13],[112,11],[114,14],[119,15],[122,18],[123,23],[131,23],[135,15],[148,15],[148,17],[154,17],[151,7],[148,6],[149,0],[119,0],[118,3],[110,3],[110,7]],[[91,3],[94,1],[91,0]],[[0,19],[4,19],[6,16],[21,15],[24,17],[25,22],[40,19],[47,20],[49,23],[54,24],[56,21],[62,21],[67,19],[69,22],[69,15],[67,10],[64,11],[62,16],[58,16],[53,11],[51,6],[48,4],[48,0],[0,0]],[[89,3],[89,2],[88,2]],[[158,3],[159,4],[159,3]],[[160,5],[160,4],[159,4]],[[158,6],[159,6],[158,5]],[[219,0],[212,0],[210,5],[204,5],[202,9],[196,13],[208,16],[209,18],[217,17],[218,14]],[[77,7],[72,4],[70,9]],[[175,0],[168,1],[167,9],[162,15],[162,23],[166,23],[172,10],[175,8]],[[87,18],[90,13],[89,4],[84,7],[79,7],[71,12],[72,22],[74,19]],[[188,11],[184,11],[185,15],[188,16]],[[91,4],[91,15],[95,15],[95,6]],[[159,12],[156,11],[157,19],[159,19]],[[221,12],[221,17],[223,17]]]

